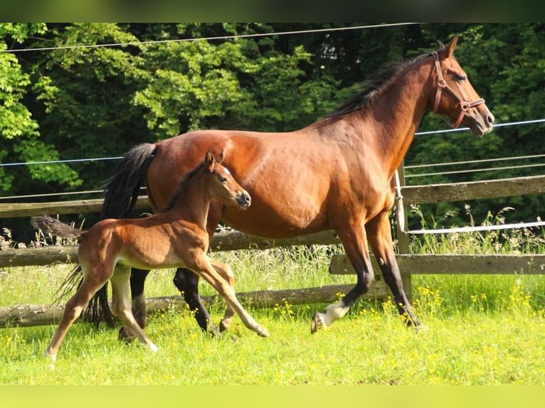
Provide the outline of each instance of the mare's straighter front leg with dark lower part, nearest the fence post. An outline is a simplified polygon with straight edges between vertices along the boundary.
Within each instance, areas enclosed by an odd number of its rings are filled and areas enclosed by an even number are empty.
[[[388,213],[383,212],[370,220],[366,224],[366,230],[369,236],[369,244],[375,254],[376,261],[379,263],[384,277],[384,281],[390,287],[393,300],[396,302],[399,314],[406,316],[408,326],[420,326],[416,316],[411,311],[403,281],[399,272],[398,263],[393,252],[393,242],[391,236],[391,226],[388,220]]]

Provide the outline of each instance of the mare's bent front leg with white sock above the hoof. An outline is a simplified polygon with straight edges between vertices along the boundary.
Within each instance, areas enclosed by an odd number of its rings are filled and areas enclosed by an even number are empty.
[[[367,291],[374,279],[373,267],[369,258],[369,250],[367,249],[366,232],[363,227],[364,223],[354,222],[351,226],[337,230],[339,239],[344,247],[346,257],[356,271],[356,286],[344,296],[343,299],[335,304],[327,306],[326,313],[317,312],[312,317],[310,327],[311,333],[316,333],[322,328],[327,328],[336,321],[342,318],[349,311],[356,300]]]

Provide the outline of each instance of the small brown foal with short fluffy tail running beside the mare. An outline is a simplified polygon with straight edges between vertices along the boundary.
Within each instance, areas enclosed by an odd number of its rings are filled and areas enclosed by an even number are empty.
[[[55,360],[68,328],[108,280],[112,282],[112,309],[124,323],[127,334],[157,350],[132,315],[129,302],[131,267],[165,269],[184,266],[203,277],[226,299],[228,307],[221,321],[223,327],[231,323],[236,312],[250,330],[264,337],[269,335],[240,305],[233,289],[231,270],[206,256],[209,242],[206,218],[211,200],[236,204],[231,209],[238,211],[249,207],[250,195],[221,166],[221,156],[216,161],[210,151],[178,186],[179,190],[167,209],[149,218],[102,220],[85,232],[51,217],[33,218],[35,227],[63,237],[80,237],[81,240],[78,257],[84,279],[67,302],[46,355]]]

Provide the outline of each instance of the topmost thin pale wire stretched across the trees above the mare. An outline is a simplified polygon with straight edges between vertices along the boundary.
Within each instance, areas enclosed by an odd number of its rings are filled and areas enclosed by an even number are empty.
[[[51,50],[75,50],[75,49],[79,49],[79,48],[124,47],[124,46],[127,46],[127,45],[150,45],[150,44],[163,44],[163,43],[184,43],[184,42],[189,42],[189,41],[232,40],[232,39],[235,39],[235,38],[287,36],[287,35],[290,35],[290,34],[324,33],[324,32],[328,32],[328,31],[346,31],[346,30],[356,30],[356,29],[363,29],[363,28],[408,26],[408,25],[411,25],[411,24],[420,24],[420,23],[387,23],[387,24],[374,24],[374,25],[371,25],[371,26],[319,28],[319,29],[315,29],[315,30],[302,30],[302,31],[280,31],[280,32],[277,32],[277,33],[240,34],[240,35],[232,35],[232,36],[217,36],[217,37],[203,37],[203,38],[180,38],[180,39],[177,39],[177,40],[134,41],[132,43],[64,45],[64,46],[60,46],[60,47],[43,47],[43,48],[26,48],[26,49],[16,49],[16,50],[0,50],[0,53],[23,53],[23,52],[27,52],[27,51],[51,51]]]

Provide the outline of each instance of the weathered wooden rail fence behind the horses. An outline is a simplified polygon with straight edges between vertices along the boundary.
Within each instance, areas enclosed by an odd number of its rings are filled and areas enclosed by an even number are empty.
[[[402,169],[401,169],[402,171]],[[494,181],[475,181],[467,183],[448,183],[430,186],[403,186],[401,173],[401,193],[403,217],[406,218],[406,205],[420,203],[439,203],[449,201],[500,198],[514,195],[545,193],[545,176],[507,178]],[[100,212],[102,200],[77,200],[57,203],[0,204],[0,218],[30,217],[43,214],[70,214]],[[149,208],[147,197],[137,201],[137,209]],[[401,222],[403,224],[403,222]],[[406,222],[404,223],[406,225]],[[408,253],[408,234],[398,230],[398,264],[403,282],[411,297],[411,275],[413,274],[545,274],[545,255],[413,255]],[[242,232],[222,232],[215,235],[211,243],[213,252],[242,249],[268,249],[293,245],[332,245],[339,240],[332,231],[295,237],[285,240],[268,240],[252,237]],[[0,268],[42,266],[59,262],[78,262],[77,247],[50,246],[31,249],[9,249],[0,251]],[[379,267],[374,262],[375,271]],[[329,265],[332,274],[354,273],[344,255],[332,257]],[[254,291],[237,294],[239,299],[250,307],[266,307],[282,304],[327,303],[337,299],[339,292],[346,293],[353,285],[330,285],[320,288]],[[381,275],[376,273],[376,281],[366,297],[384,297],[389,289]],[[213,303],[216,297],[206,298]],[[147,299],[148,311],[183,304],[181,296],[166,296]],[[62,314],[63,306],[18,305],[0,308],[0,327],[37,326],[51,324]]]

